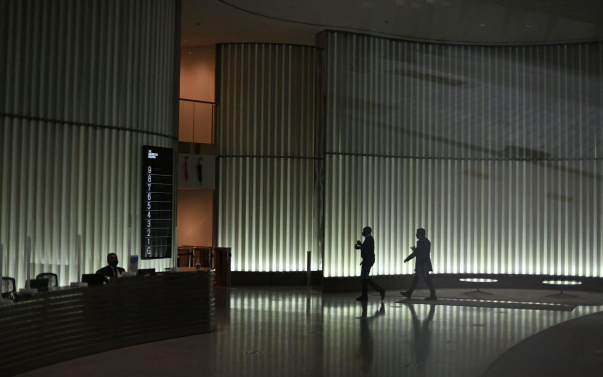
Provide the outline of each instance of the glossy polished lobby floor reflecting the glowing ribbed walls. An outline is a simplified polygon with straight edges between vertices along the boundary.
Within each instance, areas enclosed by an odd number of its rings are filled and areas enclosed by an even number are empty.
[[[524,293],[517,294],[522,301]],[[407,304],[394,291],[383,303],[371,296],[362,305],[357,295],[306,287],[216,288],[211,334],[104,352],[21,376],[477,377],[525,338],[603,310]]]

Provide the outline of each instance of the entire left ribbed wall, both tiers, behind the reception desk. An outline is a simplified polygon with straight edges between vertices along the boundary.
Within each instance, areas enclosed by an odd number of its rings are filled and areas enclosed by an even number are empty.
[[[174,147],[176,3],[0,4],[0,242],[5,276],[77,279],[140,254],[142,145]],[[131,222],[130,222],[131,216]],[[142,261],[163,269],[171,260]]]

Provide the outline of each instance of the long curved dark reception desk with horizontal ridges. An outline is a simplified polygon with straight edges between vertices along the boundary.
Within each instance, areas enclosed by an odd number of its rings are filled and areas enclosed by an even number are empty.
[[[213,331],[213,270],[54,288],[0,307],[0,376]]]

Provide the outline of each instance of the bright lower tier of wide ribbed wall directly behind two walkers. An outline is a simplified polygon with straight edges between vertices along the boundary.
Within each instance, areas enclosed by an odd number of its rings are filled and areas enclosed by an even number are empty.
[[[415,229],[436,273],[601,276],[603,161],[479,161],[327,155],[324,274],[357,276],[372,226],[374,275],[403,263]]]

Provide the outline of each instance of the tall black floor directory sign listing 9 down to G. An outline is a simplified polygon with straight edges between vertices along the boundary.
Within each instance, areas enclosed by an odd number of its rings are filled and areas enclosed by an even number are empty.
[[[174,204],[174,151],[142,146],[142,259],[170,258]]]

